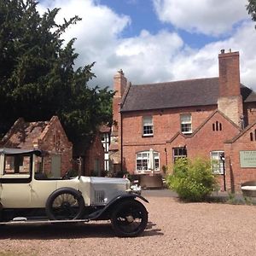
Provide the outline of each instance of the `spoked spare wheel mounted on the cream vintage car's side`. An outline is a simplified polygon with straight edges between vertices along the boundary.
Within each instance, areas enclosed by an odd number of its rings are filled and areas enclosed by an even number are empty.
[[[84,198],[81,193],[71,188],[61,188],[49,195],[45,204],[49,219],[78,219],[84,213]]]

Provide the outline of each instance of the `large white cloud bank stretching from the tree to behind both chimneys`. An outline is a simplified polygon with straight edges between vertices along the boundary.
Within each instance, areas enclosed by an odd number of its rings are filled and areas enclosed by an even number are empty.
[[[177,3],[179,2],[184,1]],[[230,0],[221,0],[219,4],[222,5],[222,2],[230,3]],[[233,2],[234,9],[237,9],[237,1],[232,0]],[[122,38],[125,27],[131,25],[131,18],[114,13],[100,2],[55,0],[49,1],[49,5],[43,4],[41,8],[61,7],[58,16],[60,22],[63,17],[74,15],[83,18],[77,25],[68,29],[65,38],[78,38],[74,44],[76,52],[79,53],[77,66],[96,61],[93,72],[97,78],[91,81],[92,85],[112,86],[113,75],[120,68],[132,84],[218,76],[218,53],[220,49],[231,48],[240,51],[241,82],[256,90],[256,50],[253,44],[256,42],[256,31],[252,21],[241,22],[227,39],[207,44],[201,49],[193,49],[183,42],[177,32],[167,30],[154,34],[143,30],[137,37]],[[237,5],[240,6],[240,3]],[[211,6],[210,4],[209,7]],[[224,8],[224,5],[222,6]],[[244,4],[242,8],[245,9]],[[190,20],[187,24],[189,22]]]

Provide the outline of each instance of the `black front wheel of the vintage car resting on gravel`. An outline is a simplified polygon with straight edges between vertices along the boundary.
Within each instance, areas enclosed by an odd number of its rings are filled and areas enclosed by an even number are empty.
[[[139,201],[121,201],[112,212],[111,223],[117,236],[138,236],[147,226],[148,212]]]

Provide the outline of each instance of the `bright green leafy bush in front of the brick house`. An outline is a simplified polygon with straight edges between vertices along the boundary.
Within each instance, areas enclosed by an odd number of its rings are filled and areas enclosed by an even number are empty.
[[[217,182],[212,174],[211,162],[200,158],[193,161],[182,158],[176,161],[167,185],[184,201],[205,201]]]

